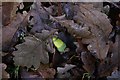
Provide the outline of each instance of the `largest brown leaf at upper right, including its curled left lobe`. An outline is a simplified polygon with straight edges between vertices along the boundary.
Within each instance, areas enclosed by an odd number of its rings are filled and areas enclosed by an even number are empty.
[[[108,36],[112,26],[105,14],[82,4],[77,7],[78,12],[74,20],[81,25],[70,20],[59,22],[67,28],[68,32],[82,38],[84,44],[89,44],[88,50],[96,53],[97,58],[102,60],[108,53]]]

